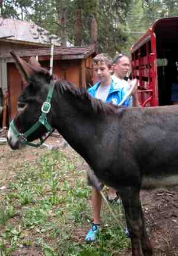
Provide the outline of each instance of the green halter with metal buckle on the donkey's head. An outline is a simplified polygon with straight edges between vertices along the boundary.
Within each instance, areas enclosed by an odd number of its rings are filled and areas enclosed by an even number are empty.
[[[41,109],[42,114],[40,115],[39,120],[35,124],[33,124],[33,126],[31,126],[30,129],[27,130],[27,132],[19,133],[18,130],[17,130],[17,127],[14,124],[14,120],[11,121],[9,127],[12,129],[12,131],[14,132],[14,135],[17,138],[22,139],[21,143],[24,143],[24,144],[27,144],[27,145],[30,145],[30,146],[34,146],[34,147],[37,148],[40,145],[42,145],[43,142],[46,141],[46,139],[49,137],[49,135],[51,133],[53,133],[54,129],[48,123],[46,115],[47,115],[47,113],[49,113],[50,108],[51,108],[50,101],[51,101],[52,96],[53,96],[53,90],[55,88],[55,83],[56,83],[56,81],[53,81],[53,80],[50,82],[49,92],[47,93],[46,101],[43,102],[43,105],[42,105],[42,109]],[[33,132],[35,132],[42,125],[45,126],[47,131],[48,131],[45,138],[42,138],[42,137],[39,138],[40,139],[39,143],[28,142],[27,141],[28,136],[30,136]]]

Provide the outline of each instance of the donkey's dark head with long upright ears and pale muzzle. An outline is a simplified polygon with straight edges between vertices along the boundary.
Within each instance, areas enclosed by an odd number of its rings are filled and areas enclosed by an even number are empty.
[[[53,79],[49,71],[42,68],[35,57],[31,57],[30,61],[26,63],[15,52],[11,51],[11,55],[23,81],[26,83],[23,92],[18,98],[18,112],[14,120],[11,121],[7,138],[9,146],[12,149],[18,149],[24,145],[24,141],[31,142],[42,138],[47,132],[45,126],[34,127],[34,124],[38,123],[39,117],[42,115],[42,109],[44,111],[49,110],[47,105],[42,106],[46,101],[49,85]],[[50,115],[50,113],[46,113],[48,122],[51,120]],[[29,129],[31,129],[30,132]]]

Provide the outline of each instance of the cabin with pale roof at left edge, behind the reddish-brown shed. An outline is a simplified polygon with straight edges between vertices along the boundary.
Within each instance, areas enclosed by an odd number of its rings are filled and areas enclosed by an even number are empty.
[[[50,47],[51,40],[56,46],[61,46],[61,40],[58,36],[50,35],[46,29],[34,23],[0,17],[0,129],[1,126],[7,126],[8,123],[6,104],[8,95],[7,55],[9,50],[46,48]],[[70,45],[69,42],[67,44]],[[4,107],[2,107],[3,105]]]

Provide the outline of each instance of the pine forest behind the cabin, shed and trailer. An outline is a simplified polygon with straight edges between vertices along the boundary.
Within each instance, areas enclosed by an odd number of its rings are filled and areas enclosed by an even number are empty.
[[[112,57],[129,53],[158,18],[178,16],[178,0],[0,0],[0,16],[36,23],[61,42],[91,43],[91,21],[97,20],[98,52]],[[77,26],[76,26],[77,25]]]

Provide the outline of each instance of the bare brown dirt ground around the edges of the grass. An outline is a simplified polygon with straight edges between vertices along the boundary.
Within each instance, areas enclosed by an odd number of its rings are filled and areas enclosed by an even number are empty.
[[[47,143],[54,145],[56,141],[60,142],[60,139],[51,137]],[[11,171],[11,166],[14,163],[33,160],[45,150],[46,148],[39,151],[28,147],[25,151],[12,151],[7,144],[0,145],[0,189],[3,189],[9,180],[13,180],[14,173]],[[66,147],[66,153],[68,150],[69,147]],[[178,186],[142,191],[141,198],[154,256],[178,256]],[[126,251],[119,255],[131,255],[130,251]]]

